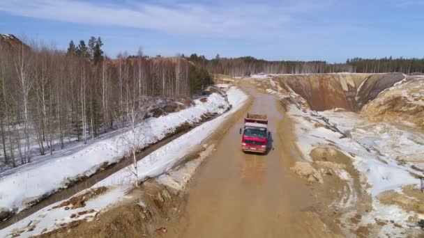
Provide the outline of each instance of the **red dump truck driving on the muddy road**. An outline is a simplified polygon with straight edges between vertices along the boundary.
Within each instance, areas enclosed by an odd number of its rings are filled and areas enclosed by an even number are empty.
[[[241,150],[243,152],[266,153],[268,145],[268,117],[266,115],[248,113],[244,118],[244,127],[240,128]]]

